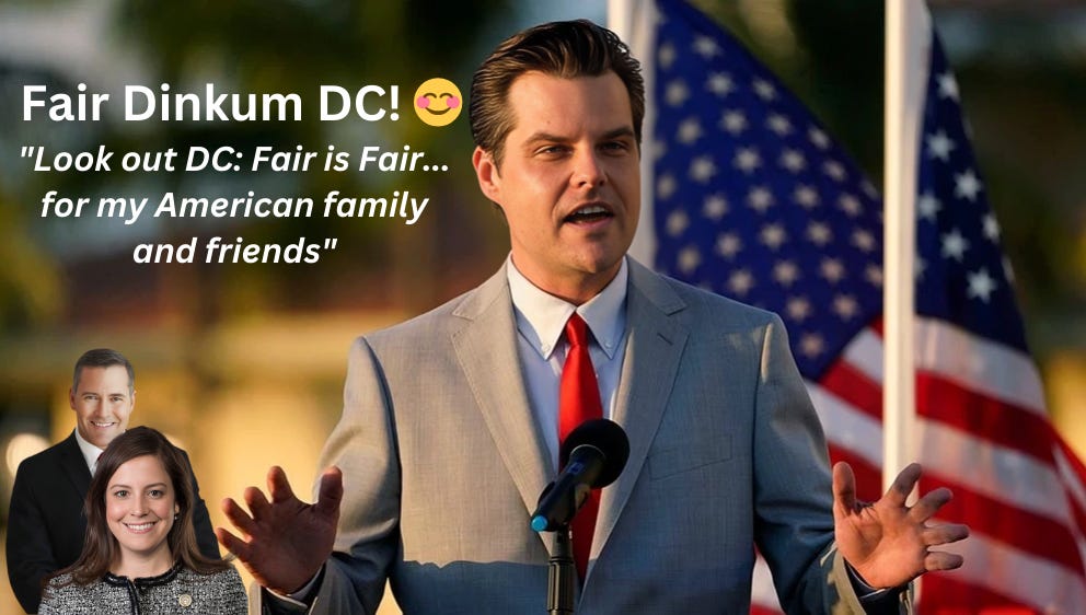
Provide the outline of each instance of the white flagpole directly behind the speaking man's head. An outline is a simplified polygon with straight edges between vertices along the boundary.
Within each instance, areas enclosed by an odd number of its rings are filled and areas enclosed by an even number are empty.
[[[642,63],[645,78],[645,119],[642,121],[642,209],[637,234],[629,255],[649,268],[656,265],[656,232],[652,224],[652,196],[656,182],[652,162],[656,159],[652,131],[656,108],[652,104],[656,76],[656,2],[652,0],[608,0],[608,27],[629,46],[629,53]]]

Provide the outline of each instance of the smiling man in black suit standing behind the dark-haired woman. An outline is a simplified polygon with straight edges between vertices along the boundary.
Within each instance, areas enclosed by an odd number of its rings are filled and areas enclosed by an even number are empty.
[[[37,612],[42,581],[79,559],[86,532],[83,500],[91,475],[99,454],[128,427],[136,404],[135,385],[131,363],[116,350],[97,348],[83,353],[68,392],[76,429],[19,465],[8,513],[8,577],[27,613]],[[193,489],[200,552],[219,557],[195,475]]]

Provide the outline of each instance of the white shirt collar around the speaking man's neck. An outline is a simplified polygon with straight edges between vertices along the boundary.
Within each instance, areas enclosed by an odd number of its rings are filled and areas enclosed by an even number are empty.
[[[533,285],[517,269],[511,257],[506,259],[506,276],[517,314],[517,329],[543,359],[550,359],[562,337],[566,321],[574,312],[585,318],[608,358],[614,358],[626,328],[626,281],[629,271],[625,257],[614,279],[599,294],[579,306]]]

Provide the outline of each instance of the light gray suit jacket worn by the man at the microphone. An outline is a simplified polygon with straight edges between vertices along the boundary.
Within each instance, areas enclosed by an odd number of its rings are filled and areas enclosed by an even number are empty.
[[[863,613],[779,318],[631,259],[627,323],[612,418],[629,461],[602,492],[576,612],[746,613],[756,545],[786,611]],[[321,461],[345,497],[314,612],[372,613],[386,578],[406,614],[545,611],[552,537],[529,514],[555,468],[516,335],[501,270],[355,343]]]

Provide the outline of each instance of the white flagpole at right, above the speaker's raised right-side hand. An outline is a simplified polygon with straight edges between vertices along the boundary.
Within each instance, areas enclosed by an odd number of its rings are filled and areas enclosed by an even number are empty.
[[[931,18],[922,0],[886,0],[882,483],[915,459],[916,161],[922,153]]]

